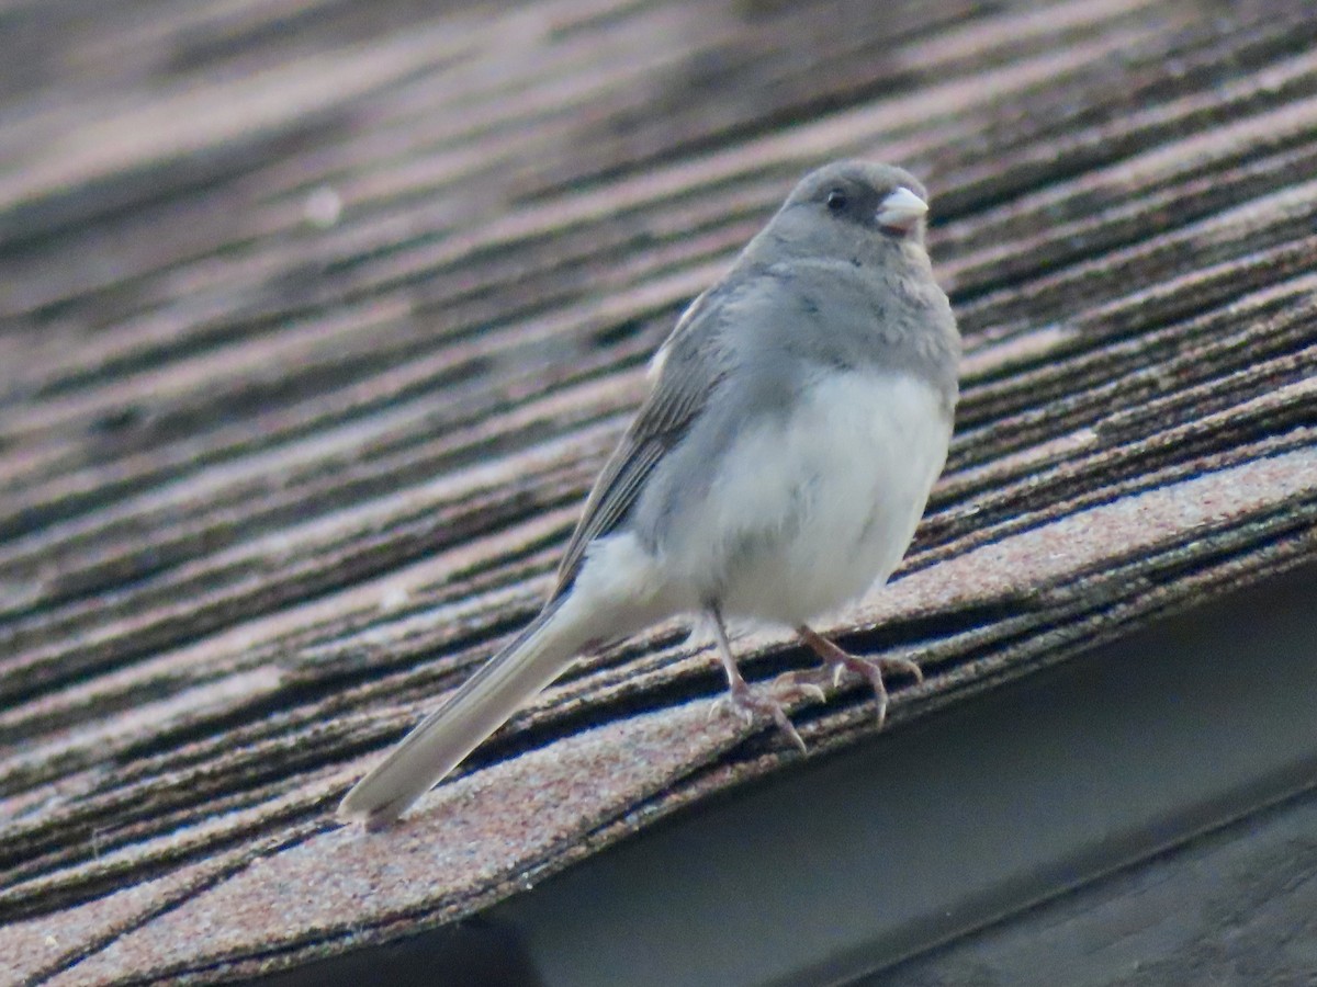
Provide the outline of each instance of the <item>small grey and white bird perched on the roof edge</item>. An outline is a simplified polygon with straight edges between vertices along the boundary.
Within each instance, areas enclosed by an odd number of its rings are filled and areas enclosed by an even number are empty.
[[[886,582],[946,463],[960,334],[925,246],[928,193],[893,164],[805,175],[655,354],[651,390],[590,491],[543,611],[342,799],[382,828],[582,651],[687,616],[727,678],[715,711],[772,720],[849,671],[885,672],[811,628]],[[736,626],[793,629],[820,659],[747,683]]]

